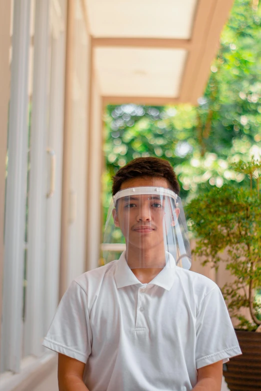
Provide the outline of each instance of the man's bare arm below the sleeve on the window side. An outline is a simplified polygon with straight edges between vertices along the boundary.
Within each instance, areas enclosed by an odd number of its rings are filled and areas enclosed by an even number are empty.
[[[76,359],[58,356],[58,386],[59,391],[88,391],[82,377],[85,364]]]

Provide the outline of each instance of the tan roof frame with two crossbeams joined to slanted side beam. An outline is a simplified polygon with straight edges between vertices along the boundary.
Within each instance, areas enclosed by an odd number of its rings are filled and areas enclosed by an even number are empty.
[[[219,47],[221,29],[227,19],[233,0],[199,0],[194,16],[190,39],[172,38],[133,38],[133,37],[94,37],[92,48],[131,47],[131,48],[169,48],[185,49],[188,52],[186,64],[180,81],[177,98],[157,96],[102,96],[103,104],[197,104],[203,94],[209,77],[209,65]]]

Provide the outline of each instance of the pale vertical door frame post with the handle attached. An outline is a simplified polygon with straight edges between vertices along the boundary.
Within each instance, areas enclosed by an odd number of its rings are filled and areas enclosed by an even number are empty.
[[[53,151],[53,158],[55,156],[56,170],[54,192],[47,199],[46,208],[44,335],[59,301],[66,5],[66,0],[55,0],[50,4],[51,61],[47,145]]]

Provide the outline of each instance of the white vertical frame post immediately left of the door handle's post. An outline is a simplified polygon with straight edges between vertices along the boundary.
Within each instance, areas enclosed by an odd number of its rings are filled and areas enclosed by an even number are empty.
[[[23,356],[40,357],[44,321],[49,0],[35,1]]]

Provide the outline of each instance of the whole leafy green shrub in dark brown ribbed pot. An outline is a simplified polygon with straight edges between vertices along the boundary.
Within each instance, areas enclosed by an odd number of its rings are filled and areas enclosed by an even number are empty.
[[[232,165],[250,178],[249,188],[224,185],[193,199],[186,207],[197,238],[194,254],[216,269],[226,250],[226,269],[233,278],[221,287],[242,351],[223,366],[230,391],[261,390],[261,164],[253,159]],[[258,295],[259,294],[259,295]],[[249,309],[249,317],[241,309]]]

